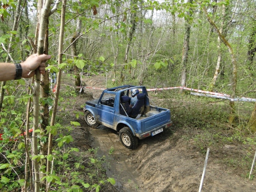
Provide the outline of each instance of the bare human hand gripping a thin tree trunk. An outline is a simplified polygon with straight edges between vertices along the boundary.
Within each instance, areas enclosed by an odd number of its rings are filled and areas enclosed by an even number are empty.
[[[51,55],[30,55],[23,63],[20,63],[22,67],[22,77],[29,78],[35,75],[35,70],[39,67],[41,74],[45,74],[45,63],[51,59]]]

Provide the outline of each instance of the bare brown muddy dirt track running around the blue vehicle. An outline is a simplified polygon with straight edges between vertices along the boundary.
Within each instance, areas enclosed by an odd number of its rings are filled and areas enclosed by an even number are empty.
[[[105,88],[103,76],[84,78],[87,86]],[[72,84],[69,82],[68,84]],[[62,86],[65,86],[62,84]],[[93,98],[98,98],[102,91],[86,89]],[[66,108],[70,114],[82,111],[81,106],[86,95],[72,98],[74,105]],[[157,104],[157,103],[156,103]],[[203,173],[205,152],[195,145],[192,139],[186,139],[187,129],[178,128],[175,124],[154,137],[139,140],[139,147],[129,150],[122,146],[118,134],[105,126],[90,128],[82,118],[75,115],[66,116],[66,121],[78,121],[81,126],[71,132],[74,139],[72,147],[97,148],[98,156],[106,156],[107,176],[116,180],[114,186],[102,188],[104,192],[192,192],[198,191]],[[236,159],[241,156],[243,146],[236,144],[219,146],[210,150],[204,176],[203,192],[242,192],[256,191],[256,181],[248,180],[247,171],[229,166],[225,157]],[[232,158],[234,157],[234,158]]]

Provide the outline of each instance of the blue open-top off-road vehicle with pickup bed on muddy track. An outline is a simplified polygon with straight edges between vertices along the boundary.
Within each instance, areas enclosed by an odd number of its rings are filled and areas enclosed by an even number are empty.
[[[138,100],[131,108],[131,90],[136,88],[140,93],[135,96]],[[138,138],[154,136],[172,125],[169,109],[149,105],[145,86],[106,89],[100,99],[85,103],[84,113],[89,126],[96,128],[102,124],[119,132],[120,141],[128,149],[138,147]]]

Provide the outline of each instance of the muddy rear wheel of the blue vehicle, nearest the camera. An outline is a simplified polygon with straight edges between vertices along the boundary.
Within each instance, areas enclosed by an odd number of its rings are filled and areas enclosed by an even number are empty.
[[[124,147],[135,149],[138,147],[138,138],[132,134],[129,127],[124,127],[119,131],[119,139]]]

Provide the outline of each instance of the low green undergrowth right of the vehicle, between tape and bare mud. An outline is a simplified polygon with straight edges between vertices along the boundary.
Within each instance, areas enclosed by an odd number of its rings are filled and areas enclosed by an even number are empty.
[[[158,106],[171,110],[173,126],[183,132],[184,141],[202,154],[210,148],[219,162],[243,169],[241,176],[248,178],[256,147],[256,138],[247,127],[254,103],[236,102],[236,122],[231,125],[228,100],[196,97],[180,90],[149,95]]]

